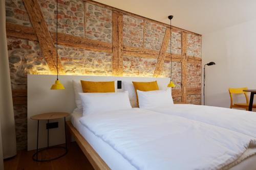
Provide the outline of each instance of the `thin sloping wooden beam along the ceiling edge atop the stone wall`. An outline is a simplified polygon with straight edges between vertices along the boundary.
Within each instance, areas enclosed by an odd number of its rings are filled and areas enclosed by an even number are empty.
[[[159,21],[156,21],[156,20],[154,20],[154,19],[146,18],[146,17],[140,16],[140,15],[137,15],[137,14],[134,14],[134,13],[131,13],[131,12],[123,11],[123,10],[121,10],[121,9],[114,8],[114,7],[111,7],[111,6],[102,4],[102,3],[98,3],[98,2],[96,2],[96,1],[92,1],[92,0],[83,0],[83,1],[84,1],[84,2],[88,2],[88,3],[91,3],[91,4],[94,4],[94,5],[97,5],[97,6],[101,6],[101,7],[110,9],[110,10],[115,10],[115,11],[121,12],[121,13],[126,14],[126,15],[130,15],[130,16],[133,16],[133,17],[142,19],[142,20],[147,20],[147,21],[149,21],[149,22],[153,22],[153,23],[156,23],[156,24],[158,24],[158,25],[161,25],[161,26],[170,28],[170,25],[168,25],[168,24],[166,24],[166,23],[159,22]],[[166,18],[167,18],[167,16],[166,16]],[[177,31],[186,32],[186,33],[189,33],[189,34],[192,34],[192,35],[202,36],[202,35],[200,35],[200,34],[197,34],[197,33],[191,32],[191,31],[187,31],[187,30],[184,30],[184,29],[181,29],[181,28],[178,28],[178,27],[174,27],[174,26],[172,26],[172,30],[177,30]]]

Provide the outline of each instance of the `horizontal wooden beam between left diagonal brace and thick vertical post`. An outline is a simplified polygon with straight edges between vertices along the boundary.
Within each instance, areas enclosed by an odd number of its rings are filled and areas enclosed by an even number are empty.
[[[51,32],[53,42],[56,43],[56,33]],[[90,51],[112,53],[112,44],[99,40],[73,36],[65,33],[58,33],[58,44],[81,48]]]

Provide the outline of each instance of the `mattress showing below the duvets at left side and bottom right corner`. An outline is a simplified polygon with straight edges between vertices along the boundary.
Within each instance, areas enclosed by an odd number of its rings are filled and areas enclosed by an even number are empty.
[[[72,124],[79,133],[90,143],[93,149],[105,161],[111,169],[136,169],[128,162],[121,154],[115,151],[108,143],[105,143],[101,138],[95,136],[88,128],[83,126],[79,119],[82,117],[81,110],[74,110],[72,113]],[[255,152],[255,149],[247,150],[236,162],[231,163],[230,170],[239,169],[256,169],[256,156],[251,156],[247,159],[244,157],[249,153]],[[243,160],[243,161],[242,161]]]

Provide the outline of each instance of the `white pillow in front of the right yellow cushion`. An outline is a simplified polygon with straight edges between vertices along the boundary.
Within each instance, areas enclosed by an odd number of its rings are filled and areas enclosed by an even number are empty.
[[[137,90],[139,107],[142,109],[149,109],[155,107],[163,107],[173,105],[171,89],[154,90],[154,91],[140,91]]]

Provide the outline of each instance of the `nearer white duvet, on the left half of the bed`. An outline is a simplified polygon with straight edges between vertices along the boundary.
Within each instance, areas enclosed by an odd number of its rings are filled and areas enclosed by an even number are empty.
[[[138,108],[80,122],[137,169],[220,169],[255,144],[252,136]]]

